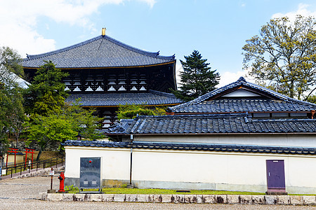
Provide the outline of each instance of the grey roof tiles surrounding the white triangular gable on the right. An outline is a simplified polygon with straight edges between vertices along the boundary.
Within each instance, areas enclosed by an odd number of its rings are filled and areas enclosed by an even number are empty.
[[[275,100],[215,100],[214,102],[205,102],[206,100],[220,95],[223,92],[226,92],[235,87],[249,87],[251,89],[258,90],[258,92],[263,92],[264,94],[270,95]],[[232,103],[230,103],[232,102]],[[227,107],[224,107],[227,106]],[[209,110],[208,110],[209,109]],[[249,109],[249,110],[246,110]],[[310,111],[315,110],[316,104],[311,104],[308,102],[303,102],[297,99],[292,99],[278,92],[272,91],[268,88],[261,87],[254,83],[247,82],[243,77],[239,78],[235,83],[230,83],[216,90],[213,90],[209,93],[198,97],[190,102],[180,104],[177,106],[170,107],[169,112],[174,113],[190,113],[190,112],[208,112],[213,111],[222,112],[226,110],[233,111]]]

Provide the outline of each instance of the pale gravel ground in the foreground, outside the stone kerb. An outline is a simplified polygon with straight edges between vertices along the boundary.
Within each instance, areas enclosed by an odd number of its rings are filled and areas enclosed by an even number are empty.
[[[316,209],[316,207],[229,205],[229,204],[152,204],[104,202],[46,202],[37,200],[40,192],[51,188],[50,177],[0,181],[0,209]],[[53,188],[59,188],[57,177]]]

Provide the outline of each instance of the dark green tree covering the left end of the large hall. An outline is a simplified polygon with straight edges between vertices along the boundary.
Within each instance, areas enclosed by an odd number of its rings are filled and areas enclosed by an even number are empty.
[[[62,78],[68,73],[56,69],[53,62],[48,61],[37,70],[34,80],[25,92],[25,107],[31,115],[49,116],[59,113],[68,96]]]

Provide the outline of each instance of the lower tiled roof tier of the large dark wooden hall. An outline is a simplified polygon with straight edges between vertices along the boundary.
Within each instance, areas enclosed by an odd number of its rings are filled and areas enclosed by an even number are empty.
[[[167,105],[182,102],[171,93],[156,90],[149,90],[149,92],[72,93],[65,101],[74,102],[78,98],[81,98],[81,106]]]

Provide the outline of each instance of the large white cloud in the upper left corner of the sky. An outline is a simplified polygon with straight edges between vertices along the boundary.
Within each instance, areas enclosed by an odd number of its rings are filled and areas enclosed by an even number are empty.
[[[39,18],[46,17],[57,23],[94,30],[90,15],[98,13],[100,6],[124,1],[127,0],[0,1],[0,45],[18,50],[22,57],[25,53],[32,55],[55,50],[55,41],[37,32]],[[154,0],[138,1],[147,3],[150,8],[155,3]]]

